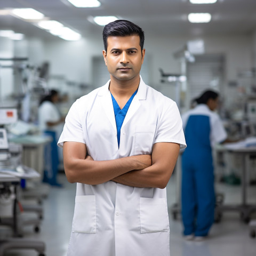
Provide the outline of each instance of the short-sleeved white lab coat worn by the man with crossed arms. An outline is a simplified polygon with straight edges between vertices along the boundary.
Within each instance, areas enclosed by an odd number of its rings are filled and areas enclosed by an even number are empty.
[[[58,145],[86,144],[95,161],[151,154],[156,142],[186,147],[177,105],[142,79],[117,131],[109,82],[70,108]],[[170,156],[171,157],[171,156]],[[68,256],[169,256],[166,189],[137,188],[108,181],[77,183]]]

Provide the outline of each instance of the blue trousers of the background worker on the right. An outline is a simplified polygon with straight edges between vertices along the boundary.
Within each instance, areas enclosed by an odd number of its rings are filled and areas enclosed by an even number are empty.
[[[211,150],[185,150],[181,185],[183,234],[207,236],[214,221],[215,207]]]

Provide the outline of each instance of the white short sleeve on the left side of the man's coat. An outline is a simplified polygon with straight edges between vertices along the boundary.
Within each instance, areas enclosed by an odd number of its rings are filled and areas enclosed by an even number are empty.
[[[81,118],[79,116],[78,104],[79,100],[77,100],[68,111],[68,115],[65,119],[65,125],[58,141],[58,146],[61,148],[65,141],[74,141],[86,144]]]

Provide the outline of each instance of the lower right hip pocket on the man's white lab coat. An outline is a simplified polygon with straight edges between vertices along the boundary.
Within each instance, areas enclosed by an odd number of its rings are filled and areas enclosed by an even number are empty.
[[[169,217],[165,198],[140,197],[141,233],[169,231]]]

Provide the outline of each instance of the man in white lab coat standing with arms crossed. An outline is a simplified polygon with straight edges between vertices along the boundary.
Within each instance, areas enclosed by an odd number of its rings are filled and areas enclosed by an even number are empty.
[[[103,29],[110,80],[70,108],[58,145],[77,183],[68,256],[169,256],[166,185],[186,147],[177,105],[140,77],[144,33]]]

